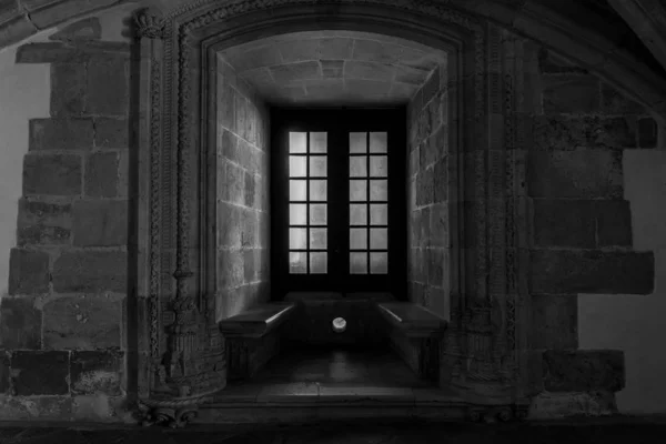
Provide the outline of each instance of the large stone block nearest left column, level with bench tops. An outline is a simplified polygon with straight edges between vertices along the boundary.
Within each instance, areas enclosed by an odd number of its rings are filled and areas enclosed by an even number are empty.
[[[47,350],[118,349],[122,296],[87,294],[49,300],[43,306],[43,323]]]

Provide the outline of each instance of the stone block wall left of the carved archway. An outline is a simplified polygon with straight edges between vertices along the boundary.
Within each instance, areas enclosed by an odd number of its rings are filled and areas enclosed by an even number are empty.
[[[95,19],[19,48],[50,67],[31,119],[17,246],[0,305],[0,416],[108,421],[128,351],[129,57]],[[19,167],[19,165],[17,165]]]

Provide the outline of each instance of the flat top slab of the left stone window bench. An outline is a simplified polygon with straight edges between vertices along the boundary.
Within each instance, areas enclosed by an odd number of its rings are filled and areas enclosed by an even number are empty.
[[[296,304],[271,302],[245,310],[218,323],[225,337],[262,337],[286,321]]]

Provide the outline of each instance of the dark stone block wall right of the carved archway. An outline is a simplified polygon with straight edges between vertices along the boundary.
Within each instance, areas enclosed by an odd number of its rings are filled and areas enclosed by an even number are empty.
[[[583,398],[592,411],[610,412],[612,394],[625,389],[623,351],[579,349],[578,300],[654,291],[654,253],[633,243],[623,158],[657,147],[658,128],[642,107],[598,78],[529,48],[532,115],[523,130],[533,137],[529,292],[534,391],[542,392],[533,414],[557,414],[561,404],[571,411]]]

